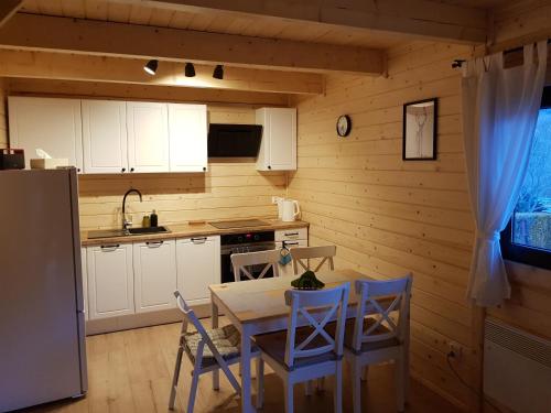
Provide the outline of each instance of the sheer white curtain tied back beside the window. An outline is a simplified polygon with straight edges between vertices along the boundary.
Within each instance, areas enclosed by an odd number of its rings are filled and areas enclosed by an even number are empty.
[[[522,66],[504,68],[498,53],[467,62],[463,72],[463,134],[477,229],[467,295],[479,306],[510,297],[499,232],[515,209],[528,167],[547,54],[547,42],[540,42],[525,46]]]

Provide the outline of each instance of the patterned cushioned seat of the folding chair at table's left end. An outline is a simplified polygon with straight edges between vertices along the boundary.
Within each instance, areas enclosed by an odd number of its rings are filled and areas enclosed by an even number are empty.
[[[207,328],[206,332],[224,360],[235,359],[240,356],[241,335],[236,327],[227,325],[222,328]],[[188,333],[184,336],[185,350],[194,363],[199,341],[199,333]],[[258,348],[253,347],[251,351],[258,351]],[[214,365],[216,365],[216,359],[213,351],[205,345],[201,367],[206,368]]]

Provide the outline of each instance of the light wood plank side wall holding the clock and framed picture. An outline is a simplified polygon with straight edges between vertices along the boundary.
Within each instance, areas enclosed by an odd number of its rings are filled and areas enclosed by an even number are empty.
[[[474,222],[461,128],[461,74],[453,58],[472,50],[415,42],[389,53],[388,78],[329,75],[326,93],[293,98],[299,170],[288,195],[301,202],[311,244],[337,246],[337,265],[380,278],[413,273],[412,371],[463,409],[471,392],[450,371],[450,340],[466,354],[462,377],[476,385],[480,349],[475,309],[465,298]],[[402,105],[437,97],[437,160],[401,161]],[[339,115],[353,119],[338,139]]]

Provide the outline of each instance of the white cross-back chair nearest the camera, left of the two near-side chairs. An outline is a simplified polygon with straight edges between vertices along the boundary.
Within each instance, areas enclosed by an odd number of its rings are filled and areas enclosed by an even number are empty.
[[[284,382],[285,413],[293,412],[295,383],[325,376],[335,376],[335,412],[343,411],[342,360],[349,289],[345,283],[321,291],[285,291],[290,306],[288,329],[253,338],[261,363],[268,362]],[[325,327],[335,318],[335,334],[329,335]]]

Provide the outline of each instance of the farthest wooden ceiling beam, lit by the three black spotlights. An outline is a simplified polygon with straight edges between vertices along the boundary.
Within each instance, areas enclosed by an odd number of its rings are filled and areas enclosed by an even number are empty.
[[[195,65],[195,77],[184,76],[184,64],[160,62],[155,76],[143,70],[145,61],[69,53],[0,50],[0,77],[125,83],[198,87],[279,94],[324,91],[323,75],[260,70],[228,66],[224,79],[213,78],[213,66]]]

